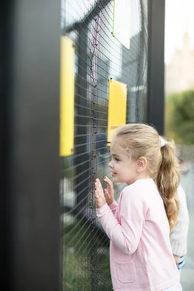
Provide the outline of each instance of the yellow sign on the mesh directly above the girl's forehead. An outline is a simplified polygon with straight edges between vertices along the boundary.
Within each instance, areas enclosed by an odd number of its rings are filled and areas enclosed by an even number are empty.
[[[113,139],[115,129],[126,124],[127,85],[109,79],[109,114],[107,146]]]

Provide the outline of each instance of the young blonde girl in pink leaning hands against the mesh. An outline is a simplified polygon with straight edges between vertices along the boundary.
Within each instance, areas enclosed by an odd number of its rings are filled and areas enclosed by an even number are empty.
[[[97,217],[111,240],[113,290],[181,291],[169,239],[178,216],[174,143],[153,127],[128,124],[117,129],[111,156],[113,181],[128,186],[117,204],[111,181],[105,178],[108,191],[103,192],[97,179],[95,197]]]

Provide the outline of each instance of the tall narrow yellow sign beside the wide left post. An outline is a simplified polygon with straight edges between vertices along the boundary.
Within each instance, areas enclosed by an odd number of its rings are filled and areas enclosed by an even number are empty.
[[[74,146],[74,55],[71,39],[61,37],[60,156],[73,154]]]

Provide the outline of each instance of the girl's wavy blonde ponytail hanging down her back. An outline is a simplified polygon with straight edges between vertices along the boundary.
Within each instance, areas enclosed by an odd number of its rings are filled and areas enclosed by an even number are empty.
[[[173,141],[165,141],[161,147],[162,162],[157,174],[156,184],[163,199],[170,232],[178,223],[179,203],[177,188],[180,181],[180,167],[176,157],[176,146]]]

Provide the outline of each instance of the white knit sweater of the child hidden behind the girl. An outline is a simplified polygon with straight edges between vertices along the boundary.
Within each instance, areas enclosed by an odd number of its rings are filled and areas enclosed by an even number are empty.
[[[173,227],[170,234],[170,242],[174,255],[182,257],[187,253],[187,234],[189,229],[189,213],[186,195],[183,188],[178,186],[178,199],[180,210],[178,214],[178,225]]]

